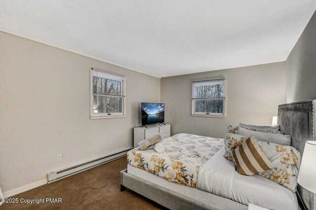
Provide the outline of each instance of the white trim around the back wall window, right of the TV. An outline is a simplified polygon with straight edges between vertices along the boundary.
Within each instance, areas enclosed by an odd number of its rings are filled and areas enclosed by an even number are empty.
[[[195,104],[193,100],[193,93],[194,93],[194,82],[199,82],[199,81],[212,81],[212,80],[224,80],[224,92],[225,92],[225,100],[224,100],[224,111],[223,114],[220,113],[206,113],[206,112],[194,112],[195,110]],[[203,79],[203,80],[194,80],[191,82],[192,86],[192,93],[191,93],[191,116],[193,117],[218,117],[218,118],[226,118],[226,100],[227,100],[227,92],[226,92],[226,79],[225,78],[217,78],[217,79]]]

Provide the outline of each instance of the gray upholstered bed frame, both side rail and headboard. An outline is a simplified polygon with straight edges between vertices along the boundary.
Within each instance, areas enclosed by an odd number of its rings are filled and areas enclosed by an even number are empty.
[[[278,124],[280,130],[286,135],[292,137],[292,146],[301,152],[304,152],[305,142],[307,140],[316,140],[316,132],[314,132],[313,110],[316,111],[316,100],[284,104],[278,106]],[[155,201],[171,210],[192,210],[192,209],[208,209],[208,210],[247,210],[248,207],[237,203],[233,200],[223,198],[214,194],[212,196],[211,206],[206,206],[201,202],[184,197],[176,192],[170,191],[145,179],[130,175],[127,169],[120,172],[121,191],[126,188],[135,191],[146,198]],[[306,189],[298,186],[297,197],[300,208],[312,210],[315,206],[314,194]]]

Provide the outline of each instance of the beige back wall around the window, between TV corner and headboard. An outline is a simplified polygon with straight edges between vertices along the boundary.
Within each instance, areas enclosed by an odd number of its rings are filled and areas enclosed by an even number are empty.
[[[226,118],[191,116],[191,81],[226,78]],[[171,134],[223,138],[229,124],[270,125],[285,103],[285,62],[161,78],[161,102]]]

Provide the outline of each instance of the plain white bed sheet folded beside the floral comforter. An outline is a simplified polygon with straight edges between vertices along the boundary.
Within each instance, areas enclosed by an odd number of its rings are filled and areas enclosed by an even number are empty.
[[[236,166],[223,157],[222,148],[199,169],[197,188],[232,199],[238,203],[249,203],[270,210],[297,210],[295,193],[259,175],[245,176],[236,171]]]

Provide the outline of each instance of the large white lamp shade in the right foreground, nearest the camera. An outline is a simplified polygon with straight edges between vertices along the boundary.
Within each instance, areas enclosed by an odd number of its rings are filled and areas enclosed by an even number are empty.
[[[316,193],[316,141],[306,141],[297,182],[299,185]]]

